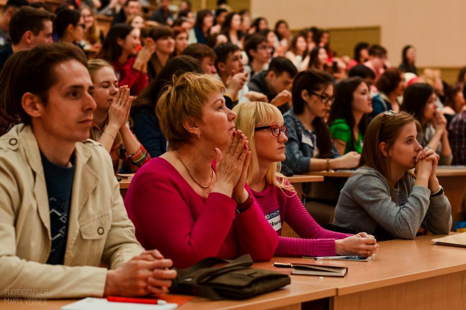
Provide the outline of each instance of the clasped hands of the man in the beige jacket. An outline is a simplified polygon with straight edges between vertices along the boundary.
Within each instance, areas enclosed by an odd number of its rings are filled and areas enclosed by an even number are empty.
[[[173,262],[157,250],[144,251],[115,270],[107,271],[104,296],[161,295],[176,277]]]

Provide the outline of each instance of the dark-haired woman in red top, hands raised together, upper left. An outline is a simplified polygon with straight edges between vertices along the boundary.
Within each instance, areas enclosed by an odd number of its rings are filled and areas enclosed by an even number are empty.
[[[131,95],[138,95],[148,84],[147,63],[155,51],[155,42],[148,38],[141,44],[137,29],[128,24],[110,28],[97,58],[110,62],[118,78],[118,86],[127,85]]]

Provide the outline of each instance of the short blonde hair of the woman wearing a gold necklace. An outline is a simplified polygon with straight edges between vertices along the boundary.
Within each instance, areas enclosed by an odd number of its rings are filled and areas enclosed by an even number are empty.
[[[173,77],[162,90],[155,109],[169,150],[189,143],[192,135],[183,127],[183,121],[189,118],[200,121],[209,96],[224,91],[223,82],[211,74],[188,72]]]

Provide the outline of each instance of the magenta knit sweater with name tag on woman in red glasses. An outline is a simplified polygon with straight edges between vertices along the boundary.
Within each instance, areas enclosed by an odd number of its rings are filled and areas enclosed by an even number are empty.
[[[272,184],[267,184],[262,192],[252,192],[265,218],[280,235],[275,256],[335,256],[335,239],[352,236],[322,228],[294,192],[285,194]],[[303,239],[282,237],[283,222]]]

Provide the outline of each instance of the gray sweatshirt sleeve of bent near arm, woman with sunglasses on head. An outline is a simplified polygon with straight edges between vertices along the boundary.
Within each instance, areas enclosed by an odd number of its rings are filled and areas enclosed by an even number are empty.
[[[414,239],[429,208],[431,191],[413,186],[405,205],[392,201],[387,182],[375,175],[361,175],[353,180],[352,196],[383,228],[395,237]],[[346,187],[346,186],[345,186]]]

